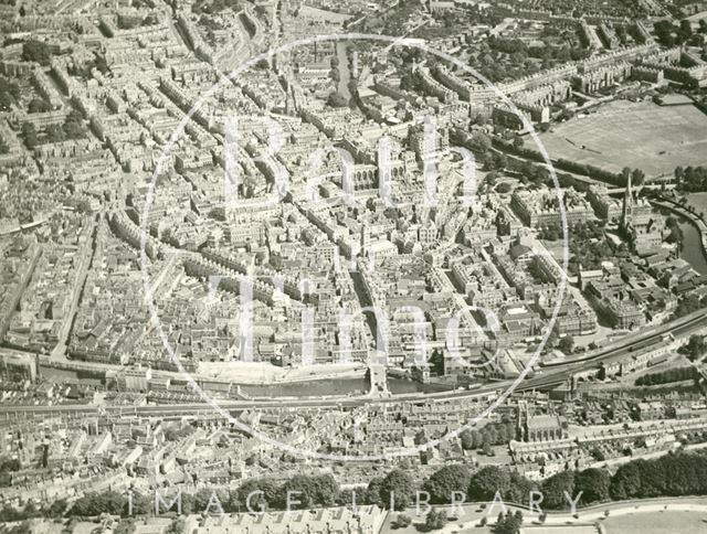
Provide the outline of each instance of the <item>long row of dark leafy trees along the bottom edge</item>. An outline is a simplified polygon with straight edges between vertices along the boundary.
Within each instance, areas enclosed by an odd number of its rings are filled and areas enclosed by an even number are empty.
[[[262,494],[253,493],[256,491],[261,491]],[[250,502],[252,509],[284,510],[288,491],[298,492],[293,493],[291,502],[297,509],[354,503],[354,491],[340,491],[330,474],[299,474],[284,482],[271,478],[251,479],[235,491],[219,490],[215,499],[213,490],[209,488],[194,494],[182,493],[181,511],[184,514],[204,511],[244,512],[250,494],[254,495]],[[414,504],[418,491],[429,492],[430,503],[433,505],[449,504],[452,500],[458,502],[461,495],[465,495],[467,502],[493,501],[500,495],[505,502],[526,504],[531,491],[540,491],[544,498],[541,505],[547,510],[568,508],[567,495],[571,499],[578,498],[577,502],[580,505],[636,498],[703,495],[707,494],[707,455],[671,452],[654,460],[633,460],[621,466],[613,476],[608,470],[590,468],[582,471],[563,471],[541,483],[532,482],[516,471],[499,466],[487,466],[473,471],[466,464],[450,464],[439,469],[422,483],[415,482],[408,470],[395,468],[386,477],[372,479],[368,488],[357,490],[356,503],[377,504],[381,508],[392,505],[394,510],[403,511]],[[169,503],[173,496],[165,491],[162,499]],[[176,508],[175,504],[171,511],[176,511]],[[154,510],[154,495],[134,493],[134,514],[150,514]],[[0,521],[23,521],[39,515],[57,517],[64,513],[64,501],[56,501],[41,511],[30,503],[24,511],[6,506],[0,510]],[[102,513],[127,516],[128,499],[115,491],[91,493],[76,500],[67,513],[72,516],[95,516]],[[443,525],[446,515],[435,510],[432,519],[429,517],[428,521],[429,528],[439,528],[441,526],[436,525]],[[504,517],[500,523],[505,525],[509,522]],[[400,514],[397,524],[407,526],[410,524],[410,517]]]

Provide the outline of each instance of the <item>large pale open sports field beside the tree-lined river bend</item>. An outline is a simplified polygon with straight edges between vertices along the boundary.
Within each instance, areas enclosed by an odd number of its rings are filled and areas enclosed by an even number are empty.
[[[540,139],[550,158],[613,172],[639,168],[648,178],[707,164],[707,115],[692,105],[615,100],[553,126]]]

